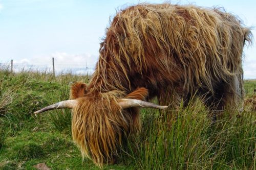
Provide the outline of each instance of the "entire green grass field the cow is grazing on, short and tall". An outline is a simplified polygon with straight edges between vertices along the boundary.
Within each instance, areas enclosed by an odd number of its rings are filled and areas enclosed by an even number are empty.
[[[34,111],[69,98],[69,84],[87,76],[0,70],[0,169],[99,169],[71,138],[70,110]],[[245,81],[246,96],[256,81]],[[182,105],[181,105],[182,108]],[[199,100],[165,114],[142,109],[142,130],[127,137],[117,164],[104,169],[255,169],[255,111],[227,110],[212,125]]]

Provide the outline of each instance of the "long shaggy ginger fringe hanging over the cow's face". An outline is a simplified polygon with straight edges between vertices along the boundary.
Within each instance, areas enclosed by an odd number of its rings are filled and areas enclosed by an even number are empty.
[[[123,114],[117,103],[116,94],[105,94],[90,103],[77,99],[73,111],[72,136],[83,158],[92,158],[101,166],[117,155],[122,136],[131,132],[132,117]]]

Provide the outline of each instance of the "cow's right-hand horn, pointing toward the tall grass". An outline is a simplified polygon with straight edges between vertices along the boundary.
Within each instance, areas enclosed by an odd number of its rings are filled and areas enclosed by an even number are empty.
[[[166,109],[168,106],[160,106],[150,102],[144,102],[137,99],[120,99],[118,101],[122,109],[127,109],[131,107],[150,107],[156,109]]]

